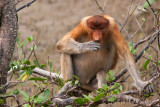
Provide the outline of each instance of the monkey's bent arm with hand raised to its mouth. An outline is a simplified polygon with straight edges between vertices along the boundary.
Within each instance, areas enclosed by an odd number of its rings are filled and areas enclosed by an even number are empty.
[[[58,51],[67,54],[80,54],[88,51],[98,50],[100,48],[100,44],[97,42],[89,41],[79,43],[75,41],[76,38],[83,36],[84,33],[84,27],[79,24],[60,41],[58,41],[56,45]]]

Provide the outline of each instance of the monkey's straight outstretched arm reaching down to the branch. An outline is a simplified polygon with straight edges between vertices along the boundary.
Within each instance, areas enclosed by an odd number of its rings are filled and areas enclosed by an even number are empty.
[[[137,87],[138,90],[142,91],[147,82],[143,82],[139,74],[136,72],[134,59],[130,54],[130,51],[128,49],[128,46],[124,38],[122,37],[120,31],[118,30],[117,25],[115,25],[113,28],[113,39],[118,49],[118,53],[124,58],[127,64],[128,71],[134,80],[134,85]]]

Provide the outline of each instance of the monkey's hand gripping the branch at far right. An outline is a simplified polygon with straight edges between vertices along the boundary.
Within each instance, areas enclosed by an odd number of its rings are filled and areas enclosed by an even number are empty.
[[[154,91],[154,88],[152,86],[152,84],[150,84],[149,81],[143,82],[143,81],[138,81],[136,83],[134,83],[134,86],[137,87],[137,89],[139,91],[143,91],[144,88],[146,89],[146,93],[147,94],[151,94]],[[147,86],[147,87],[146,87]]]

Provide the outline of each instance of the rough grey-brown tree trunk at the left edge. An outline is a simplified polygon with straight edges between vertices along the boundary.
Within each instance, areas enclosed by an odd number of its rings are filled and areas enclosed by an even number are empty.
[[[7,71],[17,37],[17,18],[14,0],[0,0],[0,86],[7,82]],[[6,89],[0,88],[0,94]]]

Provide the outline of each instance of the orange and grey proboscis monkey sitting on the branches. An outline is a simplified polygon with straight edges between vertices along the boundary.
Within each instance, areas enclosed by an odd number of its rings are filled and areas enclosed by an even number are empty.
[[[73,79],[75,75],[84,89],[102,88],[105,71],[116,66],[119,55],[125,60],[138,90],[142,91],[148,83],[140,79],[127,44],[114,19],[108,15],[84,17],[77,27],[58,41],[57,49],[62,53],[63,79]]]

